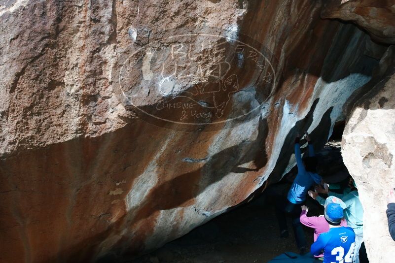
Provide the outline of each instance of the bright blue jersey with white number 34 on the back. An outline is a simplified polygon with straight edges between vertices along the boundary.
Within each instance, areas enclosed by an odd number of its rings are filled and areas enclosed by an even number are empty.
[[[323,251],[323,263],[351,263],[354,249],[355,233],[352,228],[331,228],[311,245],[311,254],[318,256]]]

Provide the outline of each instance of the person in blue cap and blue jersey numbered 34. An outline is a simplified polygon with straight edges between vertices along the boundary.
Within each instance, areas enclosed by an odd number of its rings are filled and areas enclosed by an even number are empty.
[[[314,256],[323,253],[323,263],[351,263],[354,257],[355,233],[350,227],[340,226],[344,206],[333,201],[325,201],[327,204],[324,217],[329,224],[329,231],[317,238],[311,245],[310,252]]]

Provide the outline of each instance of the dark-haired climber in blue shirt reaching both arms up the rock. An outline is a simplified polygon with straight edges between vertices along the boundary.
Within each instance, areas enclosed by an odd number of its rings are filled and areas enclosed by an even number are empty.
[[[309,133],[305,132],[306,140],[308,142],[308,157],[302,159],[300,151],[300,135],[295,138],[295,158],[298,173],[288,191],[287,199],[277,204],[277,216],[281,230],[281,237],[288,236],[286,215],[292,218],[292,228],[295,233],[296,243],[300,250],[300,254],[306,253],[306,239],[299,216],[301,213],[301,205],[306,200],[307,192],[314,183],[321,183],[321,176],[317,171],[317,157],[314,154],[313,145]]]

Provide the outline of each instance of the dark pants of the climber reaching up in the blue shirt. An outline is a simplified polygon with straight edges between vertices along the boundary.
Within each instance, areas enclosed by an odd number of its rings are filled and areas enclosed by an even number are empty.
[[[276,215],[279,222],[280,231],[288,230],[287,217],[292,220],[292,229],[295,233],[296,244],[298,248],[306,247],[306,238],[303,231],[302,223],[299,217],[302,212],[301,206],[303,204],[293,204],[286,200],[278,200],[276,202]]]

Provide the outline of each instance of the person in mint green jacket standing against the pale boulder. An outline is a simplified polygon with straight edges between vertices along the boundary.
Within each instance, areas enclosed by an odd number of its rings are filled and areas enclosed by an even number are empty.
[[[351,192],[349,194],[336,194],[330,192],[327,188],[318,187],[316,192],[309,191],[309,196],[316,199],[321,205],[325,204],[325,198],[320,197],[318,193],[327,194],[328,196],[334,196],[340,198],[345,204],[344,218],[347,221],[347,225],[351,227],[355,232],[355,252],[353,263],[359,263],[359,249],[363,242],[363,208],[359,201],[358,189],[354,181],[352,181]]]

